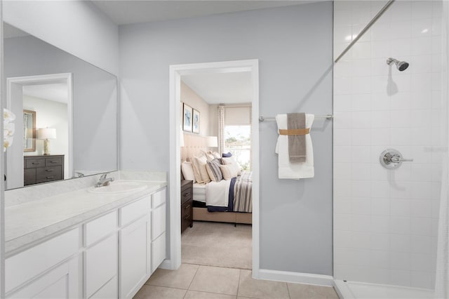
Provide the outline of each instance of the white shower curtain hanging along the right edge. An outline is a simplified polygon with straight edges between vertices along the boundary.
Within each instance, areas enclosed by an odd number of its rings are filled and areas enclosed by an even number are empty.
[[[443,1],[443,31],[441,55],[441,148],[443,151],[443,172],[441,175],[441,201],[438,220],[438,247],[436,251],[435,298],[449,298],[449,125],[448,125],[448,39],[449,39],[449,4]]]

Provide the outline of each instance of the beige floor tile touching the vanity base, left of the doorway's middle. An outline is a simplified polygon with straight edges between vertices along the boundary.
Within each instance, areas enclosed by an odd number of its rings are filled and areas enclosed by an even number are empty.
[[[198,267],[198,265],[181,264],[178,270],[157,269],[145,284],[187,290]]]

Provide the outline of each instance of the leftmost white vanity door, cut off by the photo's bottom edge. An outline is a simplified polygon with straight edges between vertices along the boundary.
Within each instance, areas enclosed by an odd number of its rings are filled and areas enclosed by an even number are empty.
[[[6,298],[81,298],[79,258],[72,258]]]

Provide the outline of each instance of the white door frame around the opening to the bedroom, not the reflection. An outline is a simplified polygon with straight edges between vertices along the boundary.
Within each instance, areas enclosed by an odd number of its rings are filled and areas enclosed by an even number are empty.
[[[181,76],[201,73],[251,72],[251,155],[253,159],[253,277],[259,277],[259,60],[170,65],[170,259],[161,266],[175,270],[181,265]]]

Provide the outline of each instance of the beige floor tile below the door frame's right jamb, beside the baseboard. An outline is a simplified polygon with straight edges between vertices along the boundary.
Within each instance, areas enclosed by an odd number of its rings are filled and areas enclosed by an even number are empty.
[[[239,296],[257,299],[288,299],[285,282],[253,279],[250,270],[241,270]]]

